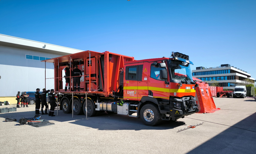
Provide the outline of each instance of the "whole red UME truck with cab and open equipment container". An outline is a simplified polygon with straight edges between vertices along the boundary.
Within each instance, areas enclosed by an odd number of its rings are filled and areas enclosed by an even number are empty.
[[[171,56],[134,60],[108,51],[84,51],[43,62],[54,63],[54,90],[61,93],[64,113],[95,116],[106,111],[141,118],[145,125],[155,126],[162,119],[177,120],[198,112],[193,63],[188,55],[172,52]],[[82,71],[80,92],[64,91],[62,72],[67,64]],[[74,87],[72,78],[70,83]]]

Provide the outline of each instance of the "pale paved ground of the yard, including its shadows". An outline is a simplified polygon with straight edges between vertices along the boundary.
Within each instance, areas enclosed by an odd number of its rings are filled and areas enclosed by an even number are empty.
[[[193,114],[159,126],[145,126],[125,115],[42,115],[55,123],[33,127],[4,122],[5,117],[33,117],[35,105],[17,112],[0,113],[0,153],[159,153],[229,154],[256,152],[256,101],[251,98],[214,98],[214,113]],[[16,105],[13,105],[16,107]],[[0,106],[12,107],[9,106]],[[41,111],[40,111],[41,112]],[[55,110],[55,115],[57,111]],[[205,122],[195,128],[178,129]]]

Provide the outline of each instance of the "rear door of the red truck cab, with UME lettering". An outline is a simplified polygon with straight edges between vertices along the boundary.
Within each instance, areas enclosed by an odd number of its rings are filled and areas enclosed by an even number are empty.
[[[138,100],[138,63],[125,67],[124,99]]]

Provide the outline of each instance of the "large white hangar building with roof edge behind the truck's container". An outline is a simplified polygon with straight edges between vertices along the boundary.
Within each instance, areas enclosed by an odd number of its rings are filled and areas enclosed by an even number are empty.
[[[47,78],[54,77],[54,65],[41,60],[81,51],[0,34],[0,97],[13,97],[18,91],[42,90],[45,88],[45,65]],[[46,89],[54,89],[53,79],[46,81]]]

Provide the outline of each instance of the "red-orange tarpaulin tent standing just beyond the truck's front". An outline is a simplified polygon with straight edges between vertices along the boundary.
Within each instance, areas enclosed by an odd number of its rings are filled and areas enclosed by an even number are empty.
[[[195,96],[199,109],[198,113],[213,113],[220,110],[220,108],[216,109],[208,83],[200,82],[201,80],[194,77],[193,80],[197,80],[196,84],[198,84]]]

